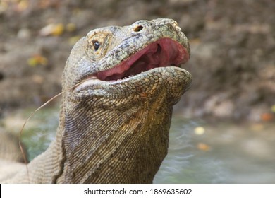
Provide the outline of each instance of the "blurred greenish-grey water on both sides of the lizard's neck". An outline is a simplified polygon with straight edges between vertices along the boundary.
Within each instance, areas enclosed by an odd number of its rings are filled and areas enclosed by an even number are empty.
[[[13,130],[20,131],[30,112],[11,115],[5,127],[19,120]],[[27,123],[23,142],[30,160],[54,139],[58,116],[58,107],[44,109]],[[274,123],[210,123],[175,116],[169,153],[154,183],[275,183],[274,143]]]

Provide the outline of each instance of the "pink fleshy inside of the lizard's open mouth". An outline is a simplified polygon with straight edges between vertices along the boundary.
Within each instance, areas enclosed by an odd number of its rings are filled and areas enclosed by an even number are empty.
[[[170,38],[161,38],[111,69],[93,74],[101,81],[118,81],[157,67],[181,66],[189,59],[188,50]]]

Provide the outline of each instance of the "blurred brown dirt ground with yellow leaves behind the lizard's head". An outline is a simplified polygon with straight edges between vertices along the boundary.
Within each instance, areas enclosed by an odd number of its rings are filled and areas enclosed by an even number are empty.
[[[1,0],[0,115],[61,92],[71,47],[88,31],[173,18],[190,40],[186,117],[274,122],[274,0]]]

